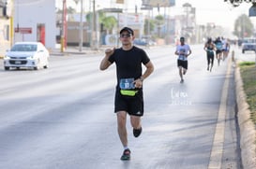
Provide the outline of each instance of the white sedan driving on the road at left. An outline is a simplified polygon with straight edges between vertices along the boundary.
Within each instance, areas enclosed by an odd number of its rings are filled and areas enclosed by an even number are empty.
[[[26,67],[38,70],[48,68],[49,51],[40,42],[17,42],[4,57],[5,70]]]

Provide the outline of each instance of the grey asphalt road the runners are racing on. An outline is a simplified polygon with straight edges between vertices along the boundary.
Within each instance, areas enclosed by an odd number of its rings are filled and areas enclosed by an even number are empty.
[[[241,168],[230,59],[206,71],[203,46],[192,46],[180,84],[174,48],[146,49],[155,72],[144,80],[143,134],[131,160],[113,113],[115,66],[103,55],[52,56],[43,70],[4,71],[0,63],[0,168]]]

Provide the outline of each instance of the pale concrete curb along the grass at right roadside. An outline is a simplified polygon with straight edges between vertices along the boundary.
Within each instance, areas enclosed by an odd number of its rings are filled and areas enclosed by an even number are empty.
[[[237,118],[240,129],[240,148],[243,168],[254,169],[256,166],[256,130],[254,123],[250,120],[250,110],[246,101],[246,94],[243,88],[243,81],[240,68],[236,64],[235,68],[235,91],[237,103]]]

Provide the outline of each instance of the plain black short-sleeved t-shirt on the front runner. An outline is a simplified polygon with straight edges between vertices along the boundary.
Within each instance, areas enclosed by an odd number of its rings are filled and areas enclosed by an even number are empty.
[[[117,84],[119,84],[121,78],[137,79],[141,77],[143,71],[142,63],[146,64],[150,59],[143,49],[133,46],[129,50],[115,49],[109,61],[116,64]]]

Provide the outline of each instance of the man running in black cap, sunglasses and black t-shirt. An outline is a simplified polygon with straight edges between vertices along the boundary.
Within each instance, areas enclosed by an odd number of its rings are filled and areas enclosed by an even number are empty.
[[[112,63],[116,64],[117,85],[114,98],[114,112],[117,115],[117,130],[124,147],[121,160],[130,159],[128,148],[127,115],[133,127],[133,134],[138,137],[142,131],[141,117],[143,116],[143,79],[150,76],[154,70],[147,54],[143,49],[134,47],[134,32],[124,27],[120,31],[120,49],[106,49],[105,57],[100,63],[100,70],[107,69]],[[145,66],[143,72],[142,64]]]

